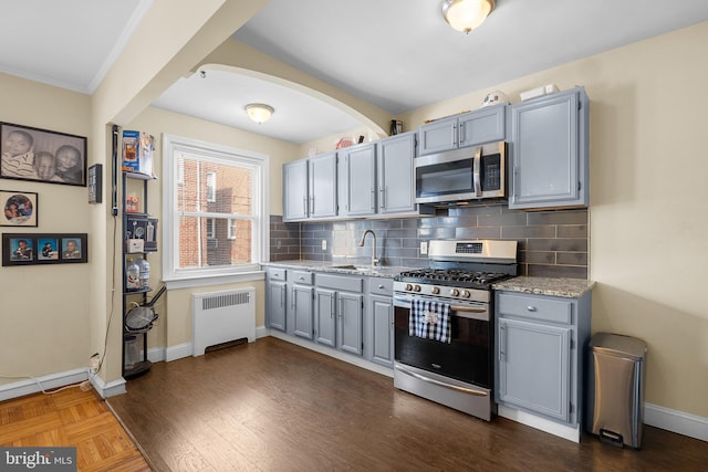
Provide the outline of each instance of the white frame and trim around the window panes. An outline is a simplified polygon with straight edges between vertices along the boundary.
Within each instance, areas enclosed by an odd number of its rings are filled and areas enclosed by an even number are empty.
[[[197,157],[217,164],[238,162],[251,167],[253,181],[253,240],[250,264],[238,266],[205,266],[179,269],[177,248],[179,242],[179,213],[177,190],[184,175],[177,165],[179,156]],[[262,279],[261,261],[270,258],[270,213],[268,203],[269,156],[230,146],[200,141],[191,138],[163,134],[163,281],[168,289],[204,285],[215,282],[230,283]],[[181,177],[181,179],[180,179]],[[216,182],[215,182],[216,183]],[[221,217],[221,216],[220,216]],[[254,276],[254,274],[258,274]]]

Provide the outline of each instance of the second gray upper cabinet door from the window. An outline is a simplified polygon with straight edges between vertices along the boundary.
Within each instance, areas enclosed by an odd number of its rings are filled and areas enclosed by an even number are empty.
[[[309,159],[310,217],[336,216],[336,153]]]

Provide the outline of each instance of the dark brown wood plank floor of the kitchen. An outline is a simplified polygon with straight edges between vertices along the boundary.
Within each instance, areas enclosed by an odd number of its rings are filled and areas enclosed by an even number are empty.
[[[108,405],[158,471],[706,471],[708,443],[642,451],[485,422],[281,339],[159,363]]]

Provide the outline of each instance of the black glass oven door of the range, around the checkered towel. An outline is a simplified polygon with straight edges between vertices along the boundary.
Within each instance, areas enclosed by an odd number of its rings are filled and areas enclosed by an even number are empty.
[[[489,304],[451,302],[451,342],[448,344],[408,334],[412,300],[408,294],[394,295],[396,363],[491,389],[493,323]]]

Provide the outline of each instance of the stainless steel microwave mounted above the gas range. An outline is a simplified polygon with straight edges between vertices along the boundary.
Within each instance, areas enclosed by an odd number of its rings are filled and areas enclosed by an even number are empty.
[[[415,158],[416,203],[450,203],[507,196],[507,143]]]

